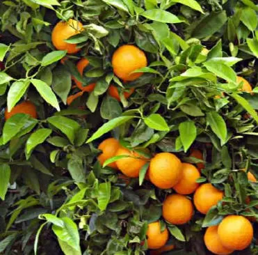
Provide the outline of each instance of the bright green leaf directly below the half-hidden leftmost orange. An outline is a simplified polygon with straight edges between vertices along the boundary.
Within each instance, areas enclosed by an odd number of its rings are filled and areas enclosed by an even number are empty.
[[[22,127],[24,127],[29,118],[30,116],[28,114],[15,114],[8,118],[3,126],[3,144],[6,144],[10,139],[15,137],[22,130]]]

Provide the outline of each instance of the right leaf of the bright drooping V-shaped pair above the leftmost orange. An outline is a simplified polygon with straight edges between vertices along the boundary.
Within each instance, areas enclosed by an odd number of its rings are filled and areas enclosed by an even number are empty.
[[[42,98],[44,98],[44,100],[49,103],[49,105],[60,111],[56,95],[45,82],[40,81],[40,79],[31,79],[31,83],[35,86],[36,90],[38,93],[40,93]]]

